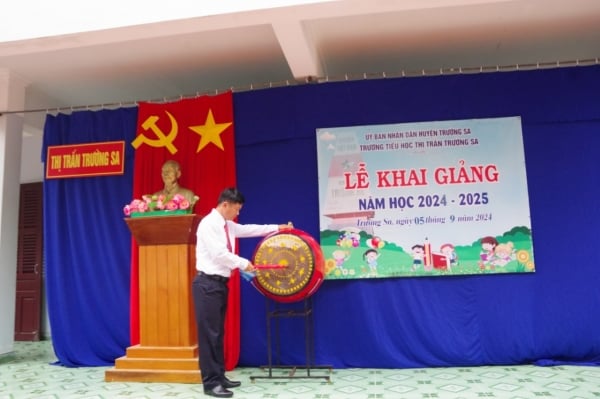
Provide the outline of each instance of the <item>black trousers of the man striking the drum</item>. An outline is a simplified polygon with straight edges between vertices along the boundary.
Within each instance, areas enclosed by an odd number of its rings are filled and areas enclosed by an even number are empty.
[[[204,389],[212,389],[225,379],[225,311],[229,288],[226,281],[197,275],[192,281],[196,326],[198,328],[198,361]]]

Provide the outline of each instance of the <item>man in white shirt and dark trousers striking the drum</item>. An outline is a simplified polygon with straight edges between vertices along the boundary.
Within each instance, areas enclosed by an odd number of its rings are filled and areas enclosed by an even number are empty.
[[[217,206],[206,215],[196,231],[196,269],[192,282],[200,371],[204,393],[219,398],[230,398],[228,388],[241,385],[225,376],[223,337],[225,312],[229,289],[227,282],[232,270],[254,272],[252,263],[235,254],[238,237],[262,237],[279,230],[293,228],[288,224],[238,224],[234,219],[244,204],[244,196],[236,188],[223,190]]]

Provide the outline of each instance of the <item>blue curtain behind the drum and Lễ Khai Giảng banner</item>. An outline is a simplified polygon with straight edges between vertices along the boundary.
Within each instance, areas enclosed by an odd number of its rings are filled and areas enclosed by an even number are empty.
[[[600,68],[337,82],[234,96],[240,221],[319,236],[317,128],[521,116],[536,272],[325,281],[317,364],[600,362]],[[258,240],[241,240],[252,256]],[[242,365],[267,362],[265,299],[242,284]],[[275,331],[275,330],[274,330]],[[303,320],[280,320],[304,364]]]

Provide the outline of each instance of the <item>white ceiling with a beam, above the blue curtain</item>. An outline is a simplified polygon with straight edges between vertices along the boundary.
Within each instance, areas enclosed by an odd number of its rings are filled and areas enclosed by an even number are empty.
[[[333,1],[0,43],[38,133],[57,108],[599,57],[599,0]]]

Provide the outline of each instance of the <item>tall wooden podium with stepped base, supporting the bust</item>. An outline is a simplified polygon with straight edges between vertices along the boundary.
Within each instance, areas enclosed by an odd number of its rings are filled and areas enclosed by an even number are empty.
[[[191,287],[200,219],[125,219],[139,246],[140,343],[115,360],[106,381],[202,382]]]

